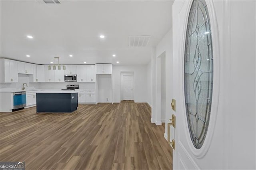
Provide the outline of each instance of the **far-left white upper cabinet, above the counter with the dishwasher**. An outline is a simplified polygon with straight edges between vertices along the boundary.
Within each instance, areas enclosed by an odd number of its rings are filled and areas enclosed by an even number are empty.
[[[10,59],[0,59],[0,82],[18,82],[17,61]]]

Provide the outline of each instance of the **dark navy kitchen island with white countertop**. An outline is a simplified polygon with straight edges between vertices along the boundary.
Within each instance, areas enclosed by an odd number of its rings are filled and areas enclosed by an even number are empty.
[[[73,112],[78,107],[79,91],[36,91],[36,112]]]

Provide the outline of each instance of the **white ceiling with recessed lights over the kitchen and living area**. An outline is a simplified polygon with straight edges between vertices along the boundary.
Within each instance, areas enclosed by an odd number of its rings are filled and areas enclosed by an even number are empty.
[[[38,64],[54,57],[60,64],[147,64],[151,48],[171,27],[173,1],[0,0],[0,57]],[[129,47],[128,37],[141,35],[151,36],[148,45]]]

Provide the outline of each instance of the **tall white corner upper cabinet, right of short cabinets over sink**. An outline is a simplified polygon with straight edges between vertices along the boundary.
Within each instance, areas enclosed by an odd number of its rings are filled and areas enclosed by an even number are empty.
[[[44,65],[33,65],[33,76],[29,77],[29,82],[44,82]]]

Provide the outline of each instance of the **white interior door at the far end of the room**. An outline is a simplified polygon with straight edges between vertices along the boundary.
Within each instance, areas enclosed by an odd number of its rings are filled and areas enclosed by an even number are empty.
[[[134,100],[134,77],[131,73],[121,74],[122,100]]]

